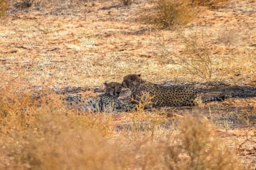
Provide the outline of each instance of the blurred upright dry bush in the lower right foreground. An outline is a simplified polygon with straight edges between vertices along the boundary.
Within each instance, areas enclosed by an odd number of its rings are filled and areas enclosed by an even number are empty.
[[[188,155],[185,169],[243,169],[207,118],[187,116],[179,127],[182,147]]]

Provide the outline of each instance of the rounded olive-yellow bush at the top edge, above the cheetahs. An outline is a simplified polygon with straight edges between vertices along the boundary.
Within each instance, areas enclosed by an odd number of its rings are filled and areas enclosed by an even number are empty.
[[[158,0],[154,10],[146,14],[149,24],[156,27],[169,28],[172,25],[185,25],[195,18],[197,10],[189,1]]]

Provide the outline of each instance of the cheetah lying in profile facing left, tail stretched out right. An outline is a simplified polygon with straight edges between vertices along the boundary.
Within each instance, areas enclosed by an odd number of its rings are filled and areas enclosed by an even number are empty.
[[[202,100],[199,92],[191,86],[175,84],[172,86],[161,86],[143,80],[141,74],[129,74],[123,77],[122,86],[131,90],[131,101],[149,103],[150,107],[181,107],[198,106],[208,101],[223,101],[228,96],[211,97]],[[151,97],[151,99],[149,98]]]

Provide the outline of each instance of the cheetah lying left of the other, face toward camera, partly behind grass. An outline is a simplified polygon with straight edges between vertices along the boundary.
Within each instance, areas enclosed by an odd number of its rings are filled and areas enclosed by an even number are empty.
[[[105,93],[90,100],[84,100],[81,95],[68,95],[65,100],[69,106],[75,106],[85,112],[129,112],[136,109],[133,103],[122,103],[118,100],[122,84],[117,82],[104,83]]]

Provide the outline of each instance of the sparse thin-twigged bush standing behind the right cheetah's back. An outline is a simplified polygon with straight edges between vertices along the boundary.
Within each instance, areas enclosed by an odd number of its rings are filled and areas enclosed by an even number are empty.
[[[177,46],[182,47],[180,52],[172,52],[168,44],[163,41],[158,43],[161,61],[167,64],[177,65],[186,73],[197,75],[209,80],[212,78],[213,68],[208,45],[205,42],[204,33],[185,34],[184,29],[176,28],[179,39]],[[172,42],[172,41],[170,41]]]

